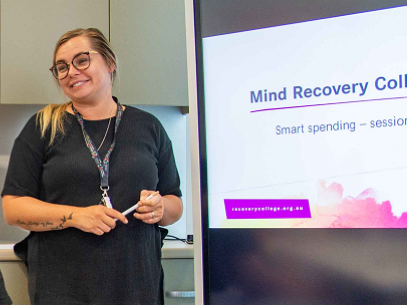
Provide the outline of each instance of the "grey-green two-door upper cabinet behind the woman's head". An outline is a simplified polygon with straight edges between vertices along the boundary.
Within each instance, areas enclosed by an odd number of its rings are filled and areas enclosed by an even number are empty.
[[[184,0],[2,0],[0,14],[2,104],[65,102],[48,70],[55,43],[97,27],[117,53],[124,104],[188,106]]]

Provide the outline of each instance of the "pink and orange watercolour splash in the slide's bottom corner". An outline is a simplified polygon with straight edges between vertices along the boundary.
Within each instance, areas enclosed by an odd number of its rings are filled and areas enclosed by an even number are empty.
[[[366,189],[356,198],[343,196],[340,184],[318,186],[318,203],[311,205],[311,219],[297,220],[293,227],[306,228],[407,228],[407,211],[394,216],[390,201],[377,202],[375,192]]]

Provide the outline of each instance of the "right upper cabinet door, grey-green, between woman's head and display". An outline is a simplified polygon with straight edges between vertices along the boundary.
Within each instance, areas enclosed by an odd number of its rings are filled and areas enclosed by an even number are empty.
[[[184,0],[111,1],[110,42],[122,103],[188,106]]]

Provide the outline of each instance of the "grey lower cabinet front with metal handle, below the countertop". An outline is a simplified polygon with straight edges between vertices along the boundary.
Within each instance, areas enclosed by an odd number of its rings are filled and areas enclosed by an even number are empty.
[[[168,258],[162,260],[164,269],[165,305],[195,304],[194,260]]]

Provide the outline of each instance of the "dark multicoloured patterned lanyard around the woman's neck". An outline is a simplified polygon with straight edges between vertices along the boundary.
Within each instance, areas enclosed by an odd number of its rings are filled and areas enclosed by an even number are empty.
[[[84,125],[83,125],[83,117],[82,115],[75,109],[75,107],[72,104],[72,111],[75,114],[76,119],[78,120],[78,123],[80,125],[80,128],[82,129],[82,134],[83,134],[83,139],[85,140],[86,146],[88,146],[92,158],[96,163],[96,166],[98,167],[99,170],[99,175],[100,175],[100,189],[102,191],[102,199],[101,203],[103,203],[107,207],[112,207],[110,198],[107,195],[107,191],[109,190],[109,184],[108,184],[108,178],[109,178],[109,158],[110,154],[113,151],[114,144],[116,142],[116,134],[118,132],[119,124],[122,119],[123,115],[123,107],[120,105],[119,101],[117,101],[118,104],[118,111],[117,111],[117,116],[116,120],[114,123],[114,135],[113,135],[113,142],[110,145],[109,150],[107,150],[106,156],[103,158],[103,161],[99,157],[98,150],[95,147],[95,144],[93,143],[91,137],[86,133]]]

